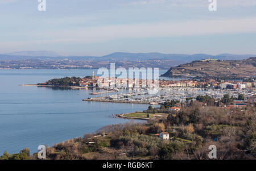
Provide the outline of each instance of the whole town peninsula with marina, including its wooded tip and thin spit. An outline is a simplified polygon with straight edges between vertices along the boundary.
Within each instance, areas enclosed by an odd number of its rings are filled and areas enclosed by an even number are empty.
[[[208,96],[220,101],[225,95],[239,99],[229,106],[220,107],[243,107],[254,105],[256,102],[256,81],[250,78],[245,80],[142,80],[136,78],[102,78],[95,76],[55,78],[44,83],[22,86],[49,86],[69,87],[70,89],[92,89],[88,97],[82,101],[110,102],[110,103],[138,103],[160,105],[167,100],[179,101],[181,104],[195,101],[199,96]],[[155,93],[149,93],[152,89]],[[106,95],[104,95],[106,94]],[[242,95],[242,98],[240,97]],[[230,106],[233,105],[233,106]],[[181,105],[182,106],[182,105]]]

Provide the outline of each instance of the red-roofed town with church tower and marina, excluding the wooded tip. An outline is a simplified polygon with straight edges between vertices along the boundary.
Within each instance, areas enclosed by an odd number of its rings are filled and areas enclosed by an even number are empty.
[[[143,86],[143,82],[146,82],[146,85]],[[195,100],[199,95],[209,95],[215,99],[221,99],[225,94],[229,94],[230,97],[234,98],[238,98],[239,94],[243,94],[243,102],[240,105],[245,105],[245,100],[250,101],[252,104],[255,102],[255,81],[224,81],[213,79],[204,79],[204,81],[159,80],[159,91],[156,94],[148,94],[148,89],[150,89],[147,86],[148,82],[154,82],[154,80],[110,77],[103,79],[101,77],[95,77],[93,73],[92,77],[81,78],[80,87],[101,87],[98,93],[94,94],[100,94],[101,96],[83,99],[83,101],[94,102],[158,105],[167,101],[167,99],[187,102],[188,99]],[[103,96],[102,94],[107,95]]]

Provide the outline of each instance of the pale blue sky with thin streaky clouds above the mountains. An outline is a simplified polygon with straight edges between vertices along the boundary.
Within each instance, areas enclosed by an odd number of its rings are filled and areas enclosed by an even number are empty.
[[[256,54],[256,0],[0,0],[0,53]]]

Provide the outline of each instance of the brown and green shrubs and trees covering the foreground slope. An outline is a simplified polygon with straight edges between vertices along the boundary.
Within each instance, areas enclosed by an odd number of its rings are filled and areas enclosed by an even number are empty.
[[[212,144],[217,159],[256,159],[255,128],[254,106],[224,109],[194,101],[170,112],[167,119],[106,126],[95,134],[47,147],[47,159],[208,159]],[[169,132],[170,140],[155,136],[162,131]],[[25,151],[5,152],[1,159],[27,159]],[[36,154],[30,159],[36,159]]]

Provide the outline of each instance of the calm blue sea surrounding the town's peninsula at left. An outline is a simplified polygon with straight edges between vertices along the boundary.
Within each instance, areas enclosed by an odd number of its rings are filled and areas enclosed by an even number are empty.
[[[94,70],[97,73],[97,70]],[[166,70],[159,70],[159,74]],[[51,78],[85,77],[92,70],[0,70],[0,155],[18,153],[27,147],[53,145],[83,136],[108,124],[127,122],[110,118],[147,109],[148,105],[83,102],[92,90],[61,90],[49,87],[18,86]]]

